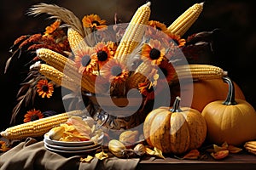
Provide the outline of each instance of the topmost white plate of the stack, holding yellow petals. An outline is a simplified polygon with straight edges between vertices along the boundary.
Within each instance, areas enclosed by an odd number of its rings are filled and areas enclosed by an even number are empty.
[[[98,139],[99,144],[102,143],[103,137],[104,137],[104,134],[102,133],[102,136]],[[46,142],[47,144],[54,144],[59,146],[85,146],[85,145],[94,144],[92,140],[81,141],[81,142],[64,142],[64,141],[52,140],[52,139],[49,139],[48,133],[44,134],[44,142]]]

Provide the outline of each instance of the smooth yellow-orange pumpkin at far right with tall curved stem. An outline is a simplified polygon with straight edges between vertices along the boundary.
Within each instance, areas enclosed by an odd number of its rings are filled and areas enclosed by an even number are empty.
[[[225,100],[206,105],[201,112],[207,122],[207,140],[214,144],[242,144],[256,138],[256,112],[245,99],[235,100],[234,84],[230,77],[223,77],[229,85]]]

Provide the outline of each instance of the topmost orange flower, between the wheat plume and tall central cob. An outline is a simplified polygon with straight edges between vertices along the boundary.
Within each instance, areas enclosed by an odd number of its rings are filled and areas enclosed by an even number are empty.
[[[87,14],[82,19],[83,26],[85,28],[90,28],[92,31],[96,31],[102,28],[106,28],[107,21],[102,20],[97,14]]]

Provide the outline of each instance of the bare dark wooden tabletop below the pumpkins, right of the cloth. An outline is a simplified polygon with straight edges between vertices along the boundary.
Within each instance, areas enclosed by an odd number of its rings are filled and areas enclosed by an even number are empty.
[[[241,153],[230,154],[223,160],[213,160],[211,156],[207,156],[203,160],[180,160],[177,158],[166,157],[166,159],[143,159],[137,167],[137,169],[207,169],[207,170],[256,170],[256,156],[253,154],[248,154],[246,151]]]

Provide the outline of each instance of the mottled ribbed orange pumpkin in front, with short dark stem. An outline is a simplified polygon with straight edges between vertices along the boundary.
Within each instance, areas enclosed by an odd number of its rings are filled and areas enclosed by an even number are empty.
[[[143,134],[150,146],[163,153],[183,154],[198,149],[207,136],[207,123],[201,112],[179,107],[177,97],[170,107],[160,107],[148,113]]]

